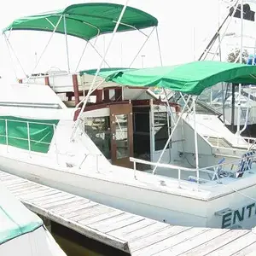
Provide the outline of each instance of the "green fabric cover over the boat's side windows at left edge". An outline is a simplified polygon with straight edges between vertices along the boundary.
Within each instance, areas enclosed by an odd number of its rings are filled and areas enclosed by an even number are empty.
[[[5,119],[7,119],[8,143],[6,140]],[[57,125],[59,120],[22,119],[13,116],[1,116],[0,143],[29,150],[27,122],[29,122],[31,150],[47,153],[54,135],[53,125]]]

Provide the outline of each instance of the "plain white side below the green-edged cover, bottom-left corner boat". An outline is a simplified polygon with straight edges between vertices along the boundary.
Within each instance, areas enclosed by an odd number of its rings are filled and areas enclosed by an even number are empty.
[[[44,226],[3,243],[0,245],[0,255],[67,256]]]

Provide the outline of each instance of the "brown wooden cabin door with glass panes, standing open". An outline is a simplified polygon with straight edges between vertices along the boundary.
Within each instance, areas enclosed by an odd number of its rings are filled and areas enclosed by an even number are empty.
[[[115,166],[132,167],[133,129],[131,104],[110,105],[111,160]]]

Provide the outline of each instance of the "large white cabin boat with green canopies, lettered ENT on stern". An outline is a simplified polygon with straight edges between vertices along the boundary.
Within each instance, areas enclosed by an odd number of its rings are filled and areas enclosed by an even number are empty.
[[[86,15],[91,9],[98,22],[95,25],[92,16]],[[127,7],[123,12],[122,5],[84,3],[61,13],[15,20],[5,32],[48,31],[49,24],[56,25],[61,18],[67,24],[73,22],[68,19],[73,20],[74,13],[79,14],[77,19],[85,19],[86,26],[100,27],[102,9],[113,15],[107,20],[112,29],[117,26],[117,32],[126,11],[120,31],[125,26],[139,30],[157,25],[154,17],[138,9]],[[103,20],[105,26],[104,15]],[[54,32],[74,35],[65,27],[63,31],[63,26],[59,30],[55,26]],[[89,32],[84,37],[90,41],[104,31]],[[253,151],[247,152],[254,145],[232,134],[218,119],[209,119],[208,124],[221,129],[222,137],[198,125],[194,96],[189,96],[191,104],[184,98],[182,108],[158,101],[149,87],[198,95],[221,79],[254,82],[252,73],[256,67],[199,61],[134,70],[101,70],[100,65],[94,71],[35,75],[28,83],[25,79],[24,84],[6,86],[0,95],[0,168],[170,224],[251,228],[256,219],[256,168]],[[187,112],[187,108],[194,111]]]

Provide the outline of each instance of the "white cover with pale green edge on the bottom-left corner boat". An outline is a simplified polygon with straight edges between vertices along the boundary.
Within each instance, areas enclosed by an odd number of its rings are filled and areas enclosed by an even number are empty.
[[[15,199],[3,183],[0,183],[0,195],[0,245],[43,226],[41,218]]]

